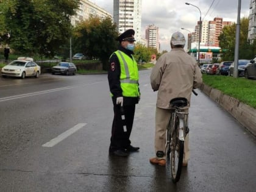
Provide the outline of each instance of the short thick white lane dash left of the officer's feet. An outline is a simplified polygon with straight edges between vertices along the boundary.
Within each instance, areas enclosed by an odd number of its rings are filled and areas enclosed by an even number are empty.
[[[58,144],[60,141],[65,140],[69,135],[72,135],[77,130],[84,127],[87,123],[79,123],[76,126],[72,127],[71,129],[66,130],[62,134],[58,135],[57,137],[53,138],[51,141],[44,143],[42,147],[51,148],[55,146],[55,144]]]

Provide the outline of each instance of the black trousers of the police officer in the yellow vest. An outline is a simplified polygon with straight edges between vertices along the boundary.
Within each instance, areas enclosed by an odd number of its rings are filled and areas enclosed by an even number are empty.
[[[110,138],[110,147],[114,149],[124,149],[130,145],[130,133],[132,132],[135,104],[125,105],[123,108],[125,121],[122,120],[120,106],[114,104],[114,118]],[[124,125],[127,131],[124,131]]]

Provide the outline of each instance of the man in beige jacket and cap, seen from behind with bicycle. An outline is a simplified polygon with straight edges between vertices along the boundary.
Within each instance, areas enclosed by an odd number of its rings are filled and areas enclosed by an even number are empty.
[[[152,164],[165,166],[166,127],[171,117],[169,101],[173,98],[187,98],[190,106],[193,88],[199,88],[202,74],[196,60],[184,51],[185,37],[175,32],[171,37],[171,51],[163,54],[151,73],[151,87],[157,94],[155,110],[155,153],[150,158]],[[183,166],[187,166],[189,159],[188,135],[184,144]]]

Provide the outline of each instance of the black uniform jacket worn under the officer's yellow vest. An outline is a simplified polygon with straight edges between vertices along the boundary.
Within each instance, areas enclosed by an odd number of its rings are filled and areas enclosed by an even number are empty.
[[[124,52],[125,54],[129,55],[130,58],[132,58],[133,51],[130,51],[128,49],[123,48],[121,45],[118,48],[119,51]],[[122,97],[122,89],[120,85],[120,62],[118,60],[118,57],[116,54],[112,54],[112,56],[109,59],[109,66],[108,66],[108,84],[110,88],[110,92],[113,94],[113,104],[116,104],[116,98]],[[138,98],[132,98],[132,97],[123,97],[124,103],[123,105],[133,105],[137,104],[139,101]]]

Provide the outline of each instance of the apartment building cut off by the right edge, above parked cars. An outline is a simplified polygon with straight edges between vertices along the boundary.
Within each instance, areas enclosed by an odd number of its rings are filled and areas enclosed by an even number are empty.
[[[249,14],[248,40],[253,41],[256,38],[256,0],[251,0]]]

